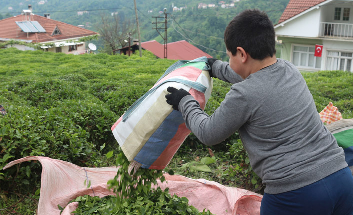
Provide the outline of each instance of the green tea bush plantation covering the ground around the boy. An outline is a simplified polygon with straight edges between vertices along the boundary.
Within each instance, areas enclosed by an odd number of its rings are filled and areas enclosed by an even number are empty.
[[[0,104],[7,112],[0,115],[0,214],[34,214],[40,195],[40,164],[2,170],[10,161],[34,155],[85,167],[114,166],[114,156],[105,156],[118,153],[110,127],[174,62],[150,52],[127,57],[0,49]],[[303,76],[318,112],[331,101],[343,118],[353,118],[353,73]],[[214,79],[208,114],[230,86]],[[210,148],[190,135],[167,171],[263,192],[238,134]]]

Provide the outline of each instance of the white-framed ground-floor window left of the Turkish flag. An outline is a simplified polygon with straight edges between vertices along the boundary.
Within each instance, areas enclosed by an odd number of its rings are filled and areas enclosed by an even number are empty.
[[[315,57],[315,46],[293,47],[293,64],[298,67],[321,68],[321,57]]]

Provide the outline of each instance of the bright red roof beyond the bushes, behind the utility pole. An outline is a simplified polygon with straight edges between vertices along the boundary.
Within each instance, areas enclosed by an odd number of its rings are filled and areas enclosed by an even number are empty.
[[[159,58],[164,58],[164,44],[160,44],[159,42],[152,40],[142,42],[141,47],[152,52]],[[193,60],[202,56],[212,57],[185,40],[170,42],[168,43],[167,49],[168,59],[172,60]]]

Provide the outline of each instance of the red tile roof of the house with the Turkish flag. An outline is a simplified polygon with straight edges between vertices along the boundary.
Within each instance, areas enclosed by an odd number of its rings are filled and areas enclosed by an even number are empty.
[[[290,0],[278,24],[326,0]]]

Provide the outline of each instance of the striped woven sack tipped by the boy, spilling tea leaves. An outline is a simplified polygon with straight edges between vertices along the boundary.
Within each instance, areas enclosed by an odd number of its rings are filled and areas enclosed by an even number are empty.
[[[131,162],[129,173],[139,167],[164,169],[168,165],[191,131],[181,112],[166,103],[166,89],[173,86],[188,91],[204,109],[213,87],[207,70],[206,57],[177,61],[111,127]]]

